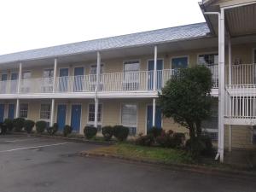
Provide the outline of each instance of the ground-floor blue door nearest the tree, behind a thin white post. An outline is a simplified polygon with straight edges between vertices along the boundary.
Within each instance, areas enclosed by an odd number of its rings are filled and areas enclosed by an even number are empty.
[[[153,106],[148,105],[148,110],[147,110],[147,129],[150,130],[153,126]],[[161,116],[161,111],[160,108],[156,106],[155,108],[155,126],[157,128],[162,127],[162,116]]]

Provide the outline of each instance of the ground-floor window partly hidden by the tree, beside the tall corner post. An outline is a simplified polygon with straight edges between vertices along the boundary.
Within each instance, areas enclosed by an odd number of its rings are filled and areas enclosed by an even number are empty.
[[[211,137],[213,141],[218,140],[218,101],[212,103],[212,115],[202,122],[201,128],[204,135]]]

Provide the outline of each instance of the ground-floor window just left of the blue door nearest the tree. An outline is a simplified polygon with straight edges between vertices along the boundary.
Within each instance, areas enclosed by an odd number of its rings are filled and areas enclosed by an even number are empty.
[[[124,104],[121,110],[122,125],[127,127],[137,127],[137,105]]]

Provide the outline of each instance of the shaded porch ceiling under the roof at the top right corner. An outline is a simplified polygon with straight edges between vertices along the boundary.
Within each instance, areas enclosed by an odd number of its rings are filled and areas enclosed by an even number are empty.
[[[256,34],[256,3],[226,9],[225,18],[231,37]]]

